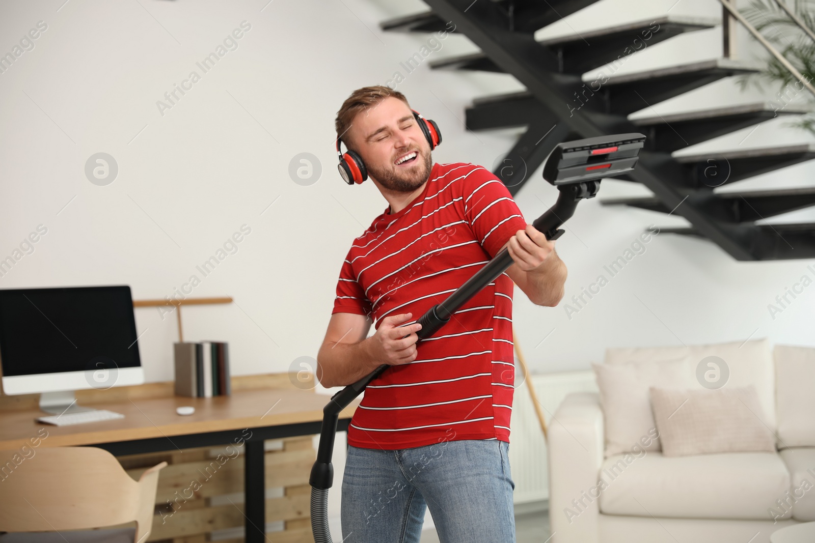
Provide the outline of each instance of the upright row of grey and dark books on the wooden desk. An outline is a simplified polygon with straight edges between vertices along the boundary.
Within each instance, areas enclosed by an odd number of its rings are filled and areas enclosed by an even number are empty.
[[[175,343],[175,395],[209,398],[231,394],[229,344]]]

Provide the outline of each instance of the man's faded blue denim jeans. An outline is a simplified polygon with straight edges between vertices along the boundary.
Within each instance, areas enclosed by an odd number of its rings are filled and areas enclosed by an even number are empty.
[[[344,543],[419,543],[425,507],[442,543],[514,543],[509,444],[443,441],[413,449],[349,445]]]

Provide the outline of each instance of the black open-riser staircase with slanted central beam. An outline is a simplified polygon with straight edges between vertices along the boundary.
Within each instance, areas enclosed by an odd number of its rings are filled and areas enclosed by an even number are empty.
[[[466,110],[470,130],[526,126],[496,176],[515,195],[528,175],[566,139],[641,132],[648,136],[628,181],[654,196],[606,200],[685,217],[688,228],[661,232],[710,239],[739,261],[815,257],[815,224],[761,225],[767,217],[815,205],[815,189],[716,192],[714,188],[815,158],[808,145],[764,147],[716,154],[672,156],[673,151],[756,125],[777,114],[754,103],[672,116],[628,115],[724,77],[754,72],[756,66],[711,59],[615,75],[628,55],[678,34],[711,28],[718,20],[663,16],[614,28],[546,41],[535,30],[591,6],[596,0],[425,0],[431,11],[385,21],[383,30],[436,32],[455,24],[481,52],[430,63],[434,69],[508,73],[526,91],[474,99]],[[610,75],[582,75],[610,63]],[[787,107],[778,113],[800,113]],[[506,165],[511,165],[507,168]]]

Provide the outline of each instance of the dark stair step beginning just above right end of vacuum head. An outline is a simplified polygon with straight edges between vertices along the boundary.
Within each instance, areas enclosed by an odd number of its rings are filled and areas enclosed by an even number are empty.
[[[801,107],[778,109],[771,102],[756,102],[664,115],[654,112],[649,116],[630,119],[630,122],[642,127],[641,132],[648,137],[646,145],[649,149],[671,152],[757,125],[778,114],[806,112],[808,110]]]

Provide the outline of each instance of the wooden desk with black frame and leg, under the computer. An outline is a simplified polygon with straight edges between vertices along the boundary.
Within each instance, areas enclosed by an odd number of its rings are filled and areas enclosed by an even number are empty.
[[[38,423],[36,418],[43,415],[39,409],[0,410],[0,458],[5,464],[14,451],[24,445],[32,447],[31,440],[37,437],[37,446],[41,447],[93,445],[117,456],[243,440],[245,541],[266,541],[263,440],[318,434],[328,401],[329,396],[294,388],[238,390],[231,396],[212,398],[128,397],[92,404],[124,414],[125,418],[68,427]],[[81,400],[79,403],[86,404]],[[176,414],[175,408],[180,405],[194,406],[195,414]],[[338,431],[347,431],[355,408],[356,404],[350,405],[341,413]],[[48,432],[44,439],[42,428]]]

